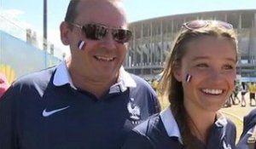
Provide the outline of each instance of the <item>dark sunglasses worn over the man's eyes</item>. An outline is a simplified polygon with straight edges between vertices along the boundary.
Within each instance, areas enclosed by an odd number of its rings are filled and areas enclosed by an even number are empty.
[[[101,40],[108,35],[109,30],[111,30],[113,40],[118,43],[127,43],[132,37],[131,31],[122,28],[110,28],[100,24],[86,24],[84,26],[79,26],[75,23],[70,24],[79,27],[84,33],[84,36],[91,40]]]

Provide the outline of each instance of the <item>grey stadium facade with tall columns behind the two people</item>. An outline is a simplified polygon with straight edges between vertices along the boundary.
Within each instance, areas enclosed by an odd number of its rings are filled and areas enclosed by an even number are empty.
[[[180,27],[198,19],[232,24],[240,50],[237,73],[241,77],[256,77],[256,9],[177,14],[132,22],[133,39],[128,46],[125,70],[148,79],[160,73]]]

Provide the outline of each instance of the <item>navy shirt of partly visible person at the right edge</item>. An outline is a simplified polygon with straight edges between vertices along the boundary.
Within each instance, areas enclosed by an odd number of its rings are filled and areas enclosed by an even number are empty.
[[[243,130],[240,140],[237,143],[237,149],[249,149],[247,140],[253,135],[253,129],[256,125],[256,109],[253,109],[243,118]]]

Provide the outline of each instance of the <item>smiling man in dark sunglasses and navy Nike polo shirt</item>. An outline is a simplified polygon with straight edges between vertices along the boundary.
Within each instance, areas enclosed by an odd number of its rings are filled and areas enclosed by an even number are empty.
[[[149,84],[122,67],[131,32],[119,0],[72,0],[60,28],[71,57],[3,95],[1,149],[118,149],[160,110]]]

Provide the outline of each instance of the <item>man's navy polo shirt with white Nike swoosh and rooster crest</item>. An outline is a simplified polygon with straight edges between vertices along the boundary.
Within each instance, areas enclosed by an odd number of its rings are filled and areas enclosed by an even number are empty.
[[[120,69],[97,99],[76,89],[66,62],[21,77],[0,99],[1,149],[119,149],[160,106],[143,78]]]

